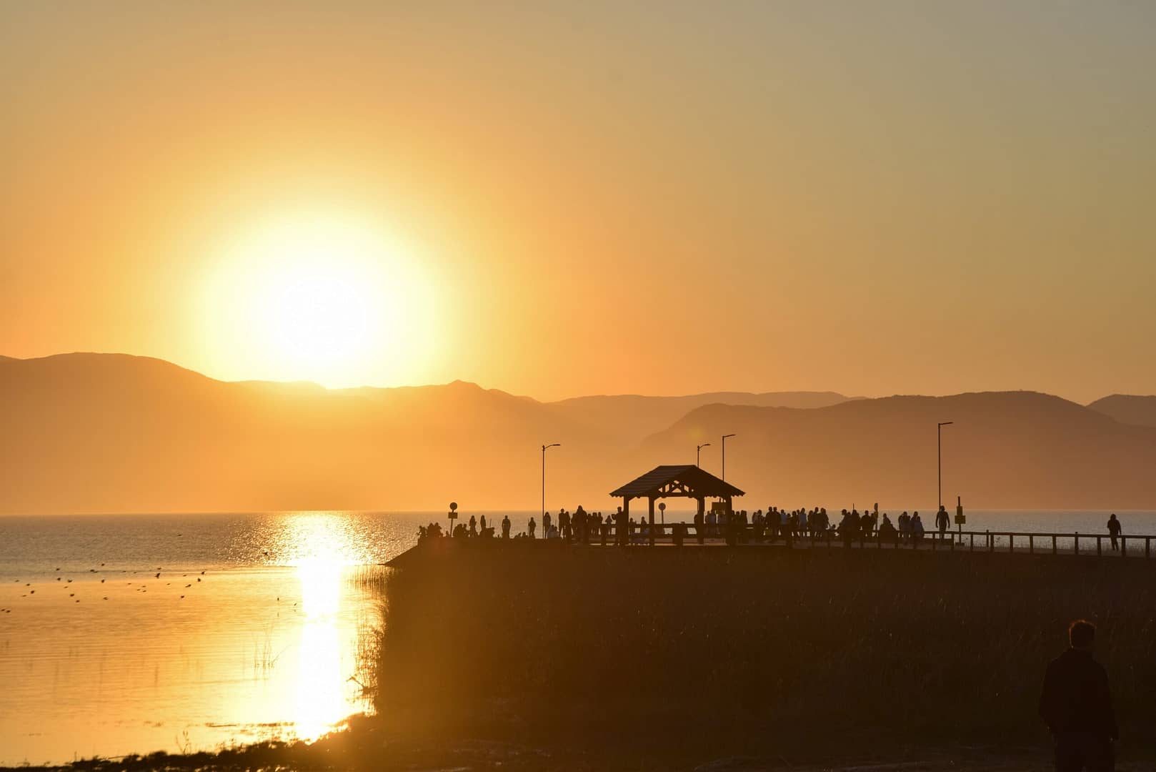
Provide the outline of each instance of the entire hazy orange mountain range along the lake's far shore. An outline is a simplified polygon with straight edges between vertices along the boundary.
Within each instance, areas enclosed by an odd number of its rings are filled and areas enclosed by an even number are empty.
[[[1118,397],[1036,392],[849,399],[831,392],[541,403],[472,383],[326,390],[227,383],[121,354],[0,358],[0,513],[608,509],[606,492],[694,463],[739,506],[1156,508],[1156,424]],[[1140,398],[1156,402],[1156,398]],[[1149,404],[1141,402],[1140,404]],[[1133,422],[1127,422],[1133,421]],[[680,508],[677,501],[670,502]]]

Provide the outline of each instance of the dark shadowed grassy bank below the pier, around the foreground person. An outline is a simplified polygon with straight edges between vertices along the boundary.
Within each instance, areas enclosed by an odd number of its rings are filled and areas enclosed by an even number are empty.
[[[1099,625],[1125,742],[1156,719],[1150,563],[487,546],[390,576],[393,729],[684,758],[1033,747],[1074,617]]]

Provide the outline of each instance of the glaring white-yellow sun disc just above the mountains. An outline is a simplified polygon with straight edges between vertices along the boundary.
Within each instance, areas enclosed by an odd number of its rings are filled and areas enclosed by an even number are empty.
[[[429,350],[432,326],[414,256],[344,218],[274,221],[236,240],[207,306],[207,343],[230,369],[328,387],[390,380]]]

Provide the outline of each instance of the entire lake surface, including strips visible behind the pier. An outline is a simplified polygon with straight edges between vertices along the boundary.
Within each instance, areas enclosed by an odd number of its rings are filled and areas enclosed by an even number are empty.
[[[966,528],[1103,534],[1107,514],[972,510]],[[1156,535],[1156,512],[1118,515],[1125,534]],[[516,532],[528,516],[511,513]],[[0,517],[0,765],[342,726],[371,707],[358,684],[381,624],[377,566],[444,517]]]

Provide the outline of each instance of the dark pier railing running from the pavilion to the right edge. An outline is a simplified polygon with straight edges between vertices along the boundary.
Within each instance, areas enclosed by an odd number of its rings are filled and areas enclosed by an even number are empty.
[[[699,536],[697,529],[702,529]],[[881,536],[879,531],[855,534],[850,539],[833,529],[824,531],[796,531],[790,535],[771,528],[755,525],[732,525],[731,539],[739,544],[765,544],[791,547],[839,549],[849,542],[854,549],[873,550],[929,550],[933,552],[1009,552],[1024,554],[1075,554],[1096,557],[1120,557],[1151,559],[1153,541],[1156,535],[1119,535],[1116,546],[1110,534],[1075,532],[1037,532],[1037,531],[964,531],[931,530],[922,537],[910,534]],[[676,534],[677,531],[677,534]],[[701,541],[712,543],[727,541],[726,525],[695,525],[694,523],[654,523],[653,535],[644,525],[633,524],[630,534],[631,544],[647,544],[661,541],[697,544]],[[592,532],[592,542],[599,542],[599,534]],[[610,528],[609,543],[614,543],[614,528]]]

